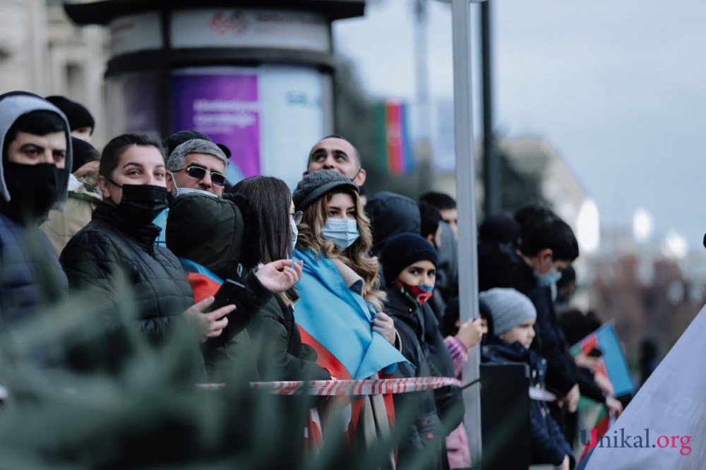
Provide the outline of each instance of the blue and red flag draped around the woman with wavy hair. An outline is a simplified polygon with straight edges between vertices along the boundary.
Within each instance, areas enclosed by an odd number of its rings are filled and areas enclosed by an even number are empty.
[[[304,260],[294,319],[301,342],[316,349],[319,366],[336,378],[363,379],[406,361],[382,335],[373,332],[373,316],[365,300],[348,289],[331,260],[299,250],[294,258]]]

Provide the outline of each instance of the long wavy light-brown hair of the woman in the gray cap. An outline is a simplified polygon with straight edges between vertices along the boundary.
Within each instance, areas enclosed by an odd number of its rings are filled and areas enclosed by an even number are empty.
[[[321,229],[328,217],[328,203],[335,194],[345,193],[351,196],[355,206],[355,217],[360,231],[359,238],[354,243],[341,250],[333,241],[323,238]],[[373,246],[373,235],[370,230],[370,220],[365,215],[360,196],[353,190],[334,190],[322,198],[314,201],[304,212],[304,218],[299,224],[299,237],[297,248],[311,250],[316,255],[323,255],[330,260],[341,260],[346,266],[354,270],[363,278],[363,298],[375,306],[376,310],[383,310],[385,292],[381,291],[378,278],[378,258],[370,254]]]

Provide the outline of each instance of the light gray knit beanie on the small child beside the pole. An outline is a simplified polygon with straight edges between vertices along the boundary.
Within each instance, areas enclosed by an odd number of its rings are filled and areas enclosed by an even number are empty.
[[[479,294],[493,317],[494,335],[502,335],[530,318],[537,318],[537,309],[529,297],[515,289],[496,287]]]

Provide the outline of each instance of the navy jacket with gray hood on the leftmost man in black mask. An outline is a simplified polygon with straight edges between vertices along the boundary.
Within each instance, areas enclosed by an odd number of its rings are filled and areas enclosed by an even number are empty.
[[[51,111],[66,121],[64,114],[46,100],[25,92],[0,95],[0,155],[6,151],[5,138],[13,123],[23,114]],[[71,138],[66,123],[68,152],[66,168],[71,169]],[[66,293],[66,276],[49,241],[35,225],[19,224],[4,210],[11,195],[5,181],[5,160],[0,162],[0,331],[24,322],[44,305]],[[59,181],[59,198],[54,208],[63,210],[69,171]],[[32,181],[26,182],[28,185]],[[37,220],[37,222],[40,222]]]

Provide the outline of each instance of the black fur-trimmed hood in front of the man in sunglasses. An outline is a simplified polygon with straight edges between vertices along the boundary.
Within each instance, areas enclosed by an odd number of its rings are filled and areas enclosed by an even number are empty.
[[[260,263],[261,236],[258,214],[241,194],[185,194],[169,206],[167,248],[223,279],[237,277],[238,264]]]

